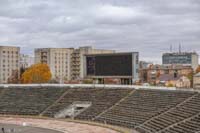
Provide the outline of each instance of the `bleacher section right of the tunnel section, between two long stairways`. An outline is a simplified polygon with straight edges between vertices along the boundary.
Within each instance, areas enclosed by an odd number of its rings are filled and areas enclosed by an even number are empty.
[[[134,128],[175,107],[193,94],[181,91],[136,90],[96,121]]]

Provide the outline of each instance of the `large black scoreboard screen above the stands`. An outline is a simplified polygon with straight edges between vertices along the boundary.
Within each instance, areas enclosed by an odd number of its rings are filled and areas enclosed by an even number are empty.
[[[133,57],[132,53],[87,55],[86,74],[87,76],[132,76]]]

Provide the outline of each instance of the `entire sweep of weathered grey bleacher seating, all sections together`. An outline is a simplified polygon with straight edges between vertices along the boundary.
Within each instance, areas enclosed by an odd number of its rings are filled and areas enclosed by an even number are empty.
[[[193,91],[0,87],[0,114],[53,117],[76,101],[92,103],[75,119],[132,128],[140,133],[200,132],[200,93]]]

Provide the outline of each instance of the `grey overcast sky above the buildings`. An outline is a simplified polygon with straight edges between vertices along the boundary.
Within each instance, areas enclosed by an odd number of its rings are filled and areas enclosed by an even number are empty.
[[[0,0],[0,45],[139,51],[160,62],[170,45],[200,54],[200,0]]]

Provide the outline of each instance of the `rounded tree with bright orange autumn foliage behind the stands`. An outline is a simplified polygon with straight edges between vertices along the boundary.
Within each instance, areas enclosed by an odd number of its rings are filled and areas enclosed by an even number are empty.
[[[22,74],[21,81],[25,84],[47,83],[50,79],[49,66],[47,64],[35,64]]]

